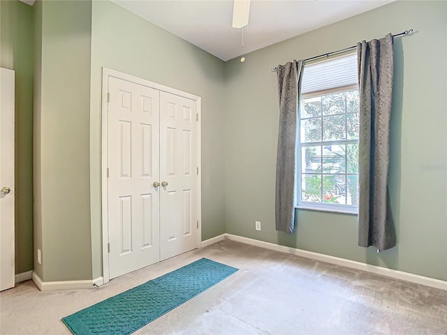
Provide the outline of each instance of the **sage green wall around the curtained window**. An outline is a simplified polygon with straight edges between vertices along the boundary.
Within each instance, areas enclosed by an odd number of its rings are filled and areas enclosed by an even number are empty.
[[[398,1],[247,54],[243,64],[228,61],[228,233],[447,280],[446,22],[445,1]],[[413,36],[395,39],[389,181],[397,246],[360,248],[357,217],[344,214],[298,210],[294,234],[274,230],[278,98],[270,68],[411,28]]]

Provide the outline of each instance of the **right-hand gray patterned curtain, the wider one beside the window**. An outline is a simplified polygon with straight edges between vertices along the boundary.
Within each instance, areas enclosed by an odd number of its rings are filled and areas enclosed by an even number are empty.
[[[393,35],[357,43],[360,86],[358,245],[396,245],[388,195]]]

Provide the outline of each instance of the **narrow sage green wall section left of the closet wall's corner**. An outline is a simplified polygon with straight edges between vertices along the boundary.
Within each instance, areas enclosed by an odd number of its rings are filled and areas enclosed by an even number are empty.
[[[36,239],[42,248],[38,275],[43,281],[91,279],[91,1],[34,6],[41,28],[34,138],[35,177],[40,177],[34,184]]]

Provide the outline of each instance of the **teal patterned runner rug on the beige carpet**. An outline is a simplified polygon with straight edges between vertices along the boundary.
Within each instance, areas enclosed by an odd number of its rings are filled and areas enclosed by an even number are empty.
[[[238,269],[207,258],[62,318],[75,335],[131,334]]]

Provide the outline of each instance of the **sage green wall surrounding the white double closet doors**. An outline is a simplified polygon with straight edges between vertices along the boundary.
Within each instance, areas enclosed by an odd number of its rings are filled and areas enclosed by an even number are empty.
[[[202,239],[225,232],[223,61],[110,1],[91,28],[91,239],[101,276],[101,66],[202,97]]]

